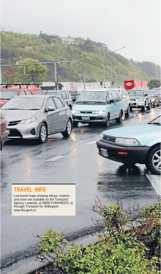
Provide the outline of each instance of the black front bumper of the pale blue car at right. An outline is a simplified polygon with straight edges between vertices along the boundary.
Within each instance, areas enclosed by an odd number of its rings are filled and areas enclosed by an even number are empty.
[[[102,140],[97,141],[97,148],[99,155],[105,157],[101,148],[107,149],[109,160],[121,162],[121,163],[139,163],[145,164],[145,157],[149,150],[147,146],[133,147],[133,146],[122,146],[114,143],[108,143]],[[127,152],[127,154],[118,154],[118,152]]]

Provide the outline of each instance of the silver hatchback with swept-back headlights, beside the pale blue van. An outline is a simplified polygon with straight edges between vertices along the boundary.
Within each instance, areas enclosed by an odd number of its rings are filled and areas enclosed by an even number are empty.
[[[62,98],[51,95],[20,95],[1,106],[7,123],[8,138],[38,139],[72,131],[70,108]]]

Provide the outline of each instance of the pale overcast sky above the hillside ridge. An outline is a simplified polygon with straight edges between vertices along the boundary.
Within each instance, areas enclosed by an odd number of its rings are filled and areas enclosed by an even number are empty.
[[[6,30],[91,38],[134,61],[161,64],[161,0],[1,0]]]

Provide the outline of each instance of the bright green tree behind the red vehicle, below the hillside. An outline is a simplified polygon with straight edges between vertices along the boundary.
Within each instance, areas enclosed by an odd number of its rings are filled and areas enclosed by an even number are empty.
[[[39,62],[38,60],[34,60],[32,58],[26,58],[19,61],[21,63],[33,63]],[[47,75],[48,68],[45,65],[38,64],[38,65],[25,65],[25,75],[24,75],[24,67],[18,66],[17,75],[14,78],[15,82],[22,82],[22,83],[39,83],[42,84],[46,75]],[[20,74],[20,75],[18,75]]]

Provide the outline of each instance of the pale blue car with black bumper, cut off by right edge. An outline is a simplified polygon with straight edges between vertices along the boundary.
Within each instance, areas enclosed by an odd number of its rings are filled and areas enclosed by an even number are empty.
[[[145,164],[161,174],[161,116],[148,124],[107,130],[97,141],[99,155],[128,166]]]

